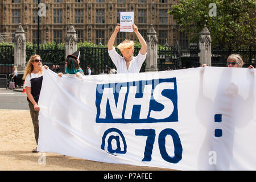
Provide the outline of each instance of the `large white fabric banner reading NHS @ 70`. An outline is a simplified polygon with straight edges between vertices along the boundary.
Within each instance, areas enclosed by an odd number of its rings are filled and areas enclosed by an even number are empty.
[[[59,77],[44,69],[38,150],[180,170],[256,169],[255,71]]]

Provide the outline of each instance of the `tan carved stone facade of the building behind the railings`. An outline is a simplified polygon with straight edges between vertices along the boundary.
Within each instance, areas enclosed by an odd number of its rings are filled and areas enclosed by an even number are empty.
[[[119,10],[134,11],[134,23],[144,38],[150,24],[153,24],[157,36],[162,35],[158,39],[167,38],[169,45],[173,45],[179,39],[178,28],[172,16],[167,14],[165,19],[160,13],[170,11],[171,6],[179,2],[177,0],[41,0],[41,2],[46,4],[46,16],[40,18],[40,43],[57,39],[64,43],[69,24],[73,23],[79,41],[96,43],[97,32],[101,31],[104,34],[101,40],[106,44],[118,22]],[[22,23],[27,42],[34,42],[37,40],[38,28],[36,10],[38,10],[37,0],[23,0],[20,3],[15,0],[0,0],[0,32],[15,32],[19,23]],[[103,15],[99,15],[98,10],[103,10],[100,11]],[[146,12],[144,17],[146,22],[140,23],[139,16],[143,10]],[[98,16],[102,16],[104,20],[99,21]],[[133,32],[126,32],[125,38],[138,41]]]

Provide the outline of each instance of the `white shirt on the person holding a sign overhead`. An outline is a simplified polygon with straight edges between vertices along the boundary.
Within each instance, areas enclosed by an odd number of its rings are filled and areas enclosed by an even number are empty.
[[[137,56],[133,57],[128,69],[126,67],[125,58],[119,55],[114,47],[109,50],[109,56],[115,64],[115,67],[117,67],[117,73],[139,73],[147,53],[142,55],[141,52],[139,52]]]

